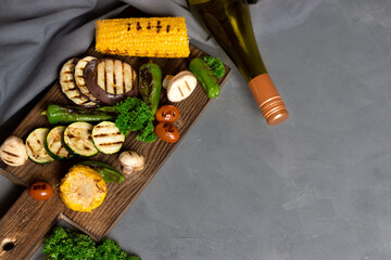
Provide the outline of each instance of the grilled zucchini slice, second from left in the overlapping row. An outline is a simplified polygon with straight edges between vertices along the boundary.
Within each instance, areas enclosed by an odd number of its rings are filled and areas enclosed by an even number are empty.
[[[55,160],[68,159],[73,157],[62,143],[62,135],[65,130],[64,126],[59,126],[49,131],[45,139],[45,148],[48,154]]]

